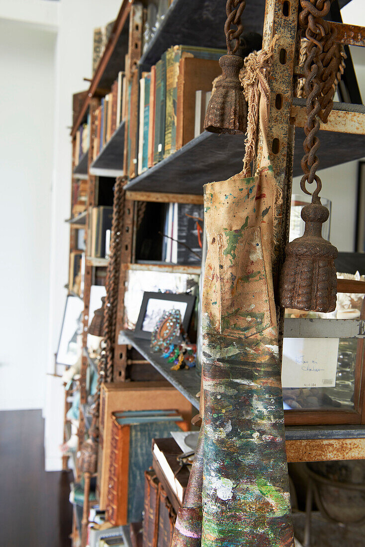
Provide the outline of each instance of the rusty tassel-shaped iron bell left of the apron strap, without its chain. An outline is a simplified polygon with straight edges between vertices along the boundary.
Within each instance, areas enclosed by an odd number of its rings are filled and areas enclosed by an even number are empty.
[[[222,77],[216,84],[204,120],[204,129],[212,133],[246,133],[247,103],[242,92],[239,73],[244,60],[237,55],[219,59]]]

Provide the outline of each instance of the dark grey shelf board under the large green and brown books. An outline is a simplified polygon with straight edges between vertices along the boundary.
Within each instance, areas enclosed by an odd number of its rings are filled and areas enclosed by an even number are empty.
[[[296,101],[296,104],[302,101]],[[348,105],[349,108],[352,105]],[[343,110],[344,104],[335,105]],[[365,107],[363,108],[365,111]],[[365,135],[320,131],[320,168],[324,169],[362,158]],[[294,177],[302,174],[304,130],[296,127]],[[242,171],[245,155],[243,135],[216,135],[205,131],[158,164],[150,167],[126,184],[126,190],[202,194],[203,185],[224,181]]]

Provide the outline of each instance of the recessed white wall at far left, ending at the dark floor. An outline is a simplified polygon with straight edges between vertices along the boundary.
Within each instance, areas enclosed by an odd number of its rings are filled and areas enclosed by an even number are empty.
[[[44,405],[55,43],[0,18],[1,410]]]

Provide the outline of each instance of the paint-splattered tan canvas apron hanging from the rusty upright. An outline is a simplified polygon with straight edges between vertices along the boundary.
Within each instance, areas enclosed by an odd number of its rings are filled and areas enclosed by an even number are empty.
[[[205,185],[203,547],[290,547],[271,167]]]

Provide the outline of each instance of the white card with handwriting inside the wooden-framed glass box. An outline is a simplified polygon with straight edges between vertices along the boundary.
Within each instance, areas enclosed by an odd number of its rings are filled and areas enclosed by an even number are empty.
[[[334,387],[338,338],[284,338],[282,387]]]

